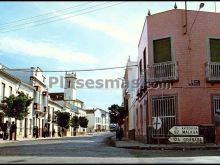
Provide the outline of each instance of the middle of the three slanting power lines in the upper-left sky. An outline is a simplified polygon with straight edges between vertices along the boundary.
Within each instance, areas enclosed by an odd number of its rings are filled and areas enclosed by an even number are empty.
[[[109,2],[105,2],[105,3],[99,4],[99,5],[90,6],[90,7],[81,9],[81,10],[72,11],[72,12],[65,13],[65,14],[61,14],[61,15],[58,15],[58,16],[51,16],[51,17],[49,17],[49,18],[44,18],[44,19],[40,19],[40,20],[29,21],[29,22],[17,24],[17,25],[14,25],[14,26],[10,26],[10,28],[19,27],[19,26],[25,26],[25,25],[28,25],[28,24],[32,24],[32,23],[36,23],[36,22],[41,22],[41,21],[47,21],[47,20],[49,21],[50,19],[53,19],[53,18],[57,18],[57,17],[60,17],[60,16],[69,15],[69,14],[72,14],[72,13],[75,13],[75,12],[87,10],[87,9],[90,9],[90,8],[94,8],[94,7],[97,7],[97,6],[104,5],[104,4],[106,4],[106,3],[109,3]],[[4,29],[8,29],[8,27],[0,28],[0,30],[4,30]]]

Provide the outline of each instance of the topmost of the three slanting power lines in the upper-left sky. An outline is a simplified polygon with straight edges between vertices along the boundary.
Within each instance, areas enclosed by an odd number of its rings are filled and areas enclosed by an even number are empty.
[[[59,10],[55,10],[55,11],[52,11],[52,12],[47,12],[47,13],[44,13],[44,14],[32,16],[32,17],[27,17],[27,18],[22,18],[22,19],[17,19],[17,20],[5,22],[4,24],[0,24],[0,26],[7,26],[9,24],[13,24],[13,23],[16,23],[16,22],[25,21],[25,20],[29,20],[29,19],[33,19],[33,18],[38,18],[38,17],[42,17],[42,16],[45,16],[45,15],[49,15],[49,14],[52,14],[52,13],[57,13],[57,12],[60,12],[60,11],[77,8],[79,6],[83,6],[83,5],[88,4],[88,3],[93,3],[93,2],[86,2],[84,4],[80,4],[80,5],[76,5],[76,6],[71,6],[71,7],[68,7],[68,8],[59,9]]]

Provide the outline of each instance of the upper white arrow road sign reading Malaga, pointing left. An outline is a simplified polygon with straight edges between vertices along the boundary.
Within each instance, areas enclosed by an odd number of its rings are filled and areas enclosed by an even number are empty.
[[[169,131],[173,135],[199,135],[198,126],[173,126]]]

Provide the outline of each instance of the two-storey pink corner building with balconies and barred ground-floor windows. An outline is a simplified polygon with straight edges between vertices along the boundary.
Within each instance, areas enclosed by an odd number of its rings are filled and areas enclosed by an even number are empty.
[[[174,125],[196,125],[200,135],[209,134],[205,142],[214,142],[220,126],[220,13],[173,9],[147,16],[138,78],[137,139],[168,143]],[[157,117],[160,128],[153,125]]]

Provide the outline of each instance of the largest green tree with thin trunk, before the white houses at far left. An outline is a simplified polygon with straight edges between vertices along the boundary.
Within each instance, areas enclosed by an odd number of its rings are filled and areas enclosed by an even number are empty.
[[[28,95],[23,92],[18,92],[18,95],[11,95],[9,97],[4,97],[2,103],[6,106],[3,106],[3,112],[5,116],[15,118],[15,123],[17,120],[23,120],[28,114],[28,107],[31,105],[33,98],[30,98]],[[15,140],[16,140],[17,129],[15,129]]]

